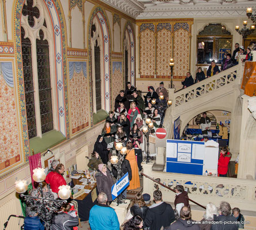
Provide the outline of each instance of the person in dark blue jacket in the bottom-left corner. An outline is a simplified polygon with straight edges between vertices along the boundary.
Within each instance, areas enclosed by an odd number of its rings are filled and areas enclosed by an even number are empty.
[[[44,225],[37,213],[30,207],[26,207],[26,218],[24,220],[24,230],[44,230]]]

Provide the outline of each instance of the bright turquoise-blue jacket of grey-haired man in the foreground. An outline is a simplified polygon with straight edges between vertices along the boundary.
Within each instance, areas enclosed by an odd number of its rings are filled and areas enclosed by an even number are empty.
[[[91,230],[119,230],[119,220],[114,209],[104,204],[94,205],[90,210]]]

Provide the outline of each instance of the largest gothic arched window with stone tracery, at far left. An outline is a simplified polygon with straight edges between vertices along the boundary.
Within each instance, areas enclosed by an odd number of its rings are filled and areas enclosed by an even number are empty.
[[[52,30],[41,0],[26,0],[21,17],[21,46],[29,139],[55,128]],[[48,22],[48,23],[47,23]],[[50,27],[50,26],[49,26]],[[53,63],[50,65],[50,63]],[[52,68],[50,68],[52,66]]]

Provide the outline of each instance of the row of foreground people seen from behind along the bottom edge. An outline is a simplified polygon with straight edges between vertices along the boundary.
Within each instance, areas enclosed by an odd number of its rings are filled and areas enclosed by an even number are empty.
[[[182,185],[175,187],[174,208],[163,201],[162,192],[155,190],[151,204],[149,194],[137,193],[132,201],[125,221],[120,225],[114,209],[107,205],[105,193],[98,195],[98,204],[90,211],[91,230],[236,230],[244,228],[244,217],[239,208],[231,209],[228,202],[222,201],[217,208],[212,202],[207,204],[200,221],[192,219],[188,193]]]

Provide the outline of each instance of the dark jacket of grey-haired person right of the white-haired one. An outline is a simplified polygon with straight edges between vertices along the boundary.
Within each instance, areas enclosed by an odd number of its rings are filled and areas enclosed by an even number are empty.
[[[234,216],[214,215],[213,221],[218,221],[219,224],[213,224],[211,230],[238,230],[238,224],[235,223],[237,220]]]

